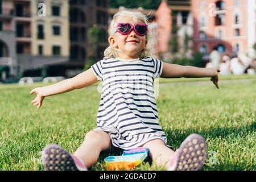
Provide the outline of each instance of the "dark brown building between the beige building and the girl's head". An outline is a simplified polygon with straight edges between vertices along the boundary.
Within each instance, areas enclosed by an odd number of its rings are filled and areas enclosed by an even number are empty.
[[[108,46],[108,0],[71,0],[70,2],[70,59],[72,62],[85,64],[88,57],[102,59],[103,52]],[[88,36],[89,28],[97,24],[98,30],[103,32],[100,43],[93,45]]]

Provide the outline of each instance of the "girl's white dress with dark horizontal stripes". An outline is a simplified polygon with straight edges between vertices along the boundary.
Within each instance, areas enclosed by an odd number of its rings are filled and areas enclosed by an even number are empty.
[[[162,61],[152,57],[104,57],[92,65],[92,70],[102,80],[96,130],[107,131],[113,146],[124,150],[152,139],[162,139],[167,145],[154,94],[154,80],[162,73]]]

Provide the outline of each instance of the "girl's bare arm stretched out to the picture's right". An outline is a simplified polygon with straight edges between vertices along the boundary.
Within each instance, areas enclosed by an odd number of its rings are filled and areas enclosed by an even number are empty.
[[[192,66],[181,66],[163,62],[162,78],[201,78],[210,77],[210,81],[218,88],[218,68],[198,68]]]

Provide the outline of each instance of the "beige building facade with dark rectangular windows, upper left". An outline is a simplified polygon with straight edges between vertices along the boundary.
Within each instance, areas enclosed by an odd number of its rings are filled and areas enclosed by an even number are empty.
[[[32,1],[31,13],[32,55],[69,56],[68,1]]]

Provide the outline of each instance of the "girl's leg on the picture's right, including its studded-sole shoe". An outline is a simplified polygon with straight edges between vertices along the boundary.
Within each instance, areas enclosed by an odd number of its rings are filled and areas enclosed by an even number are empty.
[[[198,134],[189,135],[174,152],[163,140],[151,140],[143,145],[149,150],[149,156],[159,166],[167,170],[193,170],[203,167],[207,158],[207,144]]]

